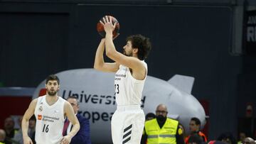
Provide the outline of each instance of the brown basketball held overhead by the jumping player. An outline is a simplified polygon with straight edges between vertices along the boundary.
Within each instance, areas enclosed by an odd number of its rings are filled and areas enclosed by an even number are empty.
[[[112,23],[117,23],[116,24],[116,27],[114,28],[114,31],[113,31],[113,38],[115,36],[117,36],[117,33],[119,33],[119,23],[117,21],[117,18],[114,18],[114,16],[108,16],[108,18],[112,17]],[[103,22],[103,17],[100,19],[100,21]],[[103,37],[105,38],[105,35],[106,35],[106,32],[104,31],[104,26],[102,25],[102,23],[100,23],[100,21],[97,23],[97,32]]]

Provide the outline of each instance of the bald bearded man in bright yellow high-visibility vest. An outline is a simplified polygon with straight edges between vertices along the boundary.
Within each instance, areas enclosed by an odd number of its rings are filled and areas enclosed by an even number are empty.
[[[183,131],[178,121],[167,118],[167,113],[164,104],[156,107],[156,118],[146,121],[141,143],[184,143]],[[173,131],[169,131],[170,129]]]

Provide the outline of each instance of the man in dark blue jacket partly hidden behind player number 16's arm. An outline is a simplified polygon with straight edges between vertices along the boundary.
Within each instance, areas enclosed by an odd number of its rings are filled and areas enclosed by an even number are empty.
[[[79,102],[75,96],[69,96],[67,101],[73,106],[75,115],[78,118],[80,123],[80,130],[78,133],[71,139],[70,144],[91,144],[90,140],[90,123],[85,117],[78,114]],[[72,123],[68,123],[68,119],[65,120],[65,125],[63,128],[63,136],[67,135],[73,128]]]

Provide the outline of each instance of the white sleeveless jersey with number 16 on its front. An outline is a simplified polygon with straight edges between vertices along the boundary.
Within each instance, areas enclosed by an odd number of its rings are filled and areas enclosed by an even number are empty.
[[[36,143],[57,144],[63,138],[65,100],[58,96],[55,104],[49,106],[46,95],[38,97],[35,109]]]

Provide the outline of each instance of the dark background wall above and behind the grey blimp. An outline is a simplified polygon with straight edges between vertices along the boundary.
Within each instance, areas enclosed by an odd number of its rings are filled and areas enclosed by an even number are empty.
[[[233,1],[182,2],[1,2],[0,82],[36,87],[48,74],[93,67],[100,42],[96,23],[112,15],[120,23],[117,50],[122,51],[127,35],[151,38],[149,75],[164,80],[174,74],[195,77],[192,94],[210,106],[209,139],[236,133],[237,117],[247,101],[255,101],[256,84],[250,78],[255,57],[230,54]]]

